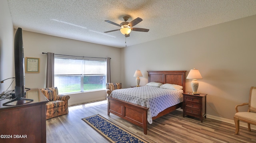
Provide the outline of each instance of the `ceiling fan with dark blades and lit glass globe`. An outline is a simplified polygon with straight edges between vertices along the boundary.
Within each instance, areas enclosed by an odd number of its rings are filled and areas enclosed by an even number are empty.
[[[115,30],[110,30],[110,31],[106,31],[104,33],[108,33],[108,32],[113,32],[113,31],[118,31],[120,30],[122,34],[125,35],[125,37],[129,37],[130,36],[130,32],[131,31],[140,31],[140,32],[148,32],[149,29],[144,29],[144,28],[134,28],[133,26],[135,26],[136,24],[140,23],[142,21],[141,18],[136,18],[134,20],[132,20],[130,23],[127,22],[127,20],[129,19],[129,17],[124,16],[123,20],[124,22],[122,22],[121,24],[116,24],[114,22],[111,22],[109,20],[105,20],[105,22],[108,22],[110,24],[114,24],[117,26],[120,26],[121,29],[115,29]]]

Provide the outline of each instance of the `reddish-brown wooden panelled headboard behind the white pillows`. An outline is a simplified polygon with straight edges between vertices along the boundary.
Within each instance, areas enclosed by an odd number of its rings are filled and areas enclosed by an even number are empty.
[[[185,72],[186,71],[147,71],[148,82],[161,82],[162,84],[178,84],[186,91]]]

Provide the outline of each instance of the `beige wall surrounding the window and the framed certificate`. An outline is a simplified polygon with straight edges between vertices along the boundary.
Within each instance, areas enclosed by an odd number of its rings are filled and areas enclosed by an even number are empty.
[[[105,45],[93,44],[83,41],[55,37],[30,31],[22,31],[24,57],[40,58],[39,73],[25,73],[27,88],[44,88],[46,82],[47,55],[42,52],[52,52],[63,55],[76,55],[85,57],[110,57],[111,81],[120,82],[121,79],[121,49]],[[93,100],[104,99],[106,91],[84,92],[69,94],[69,105]]]

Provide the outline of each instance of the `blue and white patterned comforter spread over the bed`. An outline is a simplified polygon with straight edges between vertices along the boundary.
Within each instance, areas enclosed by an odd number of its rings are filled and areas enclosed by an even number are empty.
[[[183,90],[170,90],[160,87],[140,86],[113,90],[110,97],[126,102],[148,107],[148,123],[152,124],[152,117],[166,108],[182,102]]]

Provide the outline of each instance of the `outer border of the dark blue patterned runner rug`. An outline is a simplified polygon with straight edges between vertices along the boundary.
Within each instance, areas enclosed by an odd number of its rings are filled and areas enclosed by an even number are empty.
[[[100,116],[101,118],[103,118],[104,120],[110,122],[111,124],[115,125],[116,127],[122,129],[123,131],[129,133],[130,135],[140,139],[143,143],[148,143],[147,141],[145,141],[144,139],[141,139],[140,137],[138,137],[137,135],[134,135],[134,133],[131,133],[129,131],[127,131],[126,129],[123,129],[122,127],[120,127],[119,125],[116,125],[115,123],[113,123],[112,121],[109,121],[108,119],[104,118],[103,116],[101,116],[100,114],[96,114],[96,115],[93,115],[93,116],[89,116],[89,117],[86,117],[86,118],[91,118],[91,117],[94,117],[94,116]],[[105,135],[104,133],[102,133],[102,131],[100,131],[99,129],[97,129],[96,127],[94,127],[94,125],[92,125],[90,122],[88,122],[86,120],[86,118],[82,118],[82,120],[87,123],[90,127],[92,127],[97,133],[99,133],[100,135],[102,135],[105,139],[107,139],[110,143],[116,143],[115,141],[113,141],[112,139],[110,139],[107,135]]]

